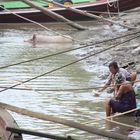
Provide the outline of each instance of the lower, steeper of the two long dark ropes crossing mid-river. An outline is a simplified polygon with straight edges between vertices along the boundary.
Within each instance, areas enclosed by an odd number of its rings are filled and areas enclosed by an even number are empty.
[[[73,61],[73,62],[68,63],[68,64],[66,64],[66,65],[63,65],[63,66],[60,66],[60,67],[58,67],[58,68],[56,68],[56,69],[53,69],[53,70],[48,71],[48,72],[46,72],[46,73],[40,74],[40,75],[35,76],[35,77],[33,77],[33,78],[30,78],[30,79],[28,79],[28,80],[25,80],[25,81],[23,81],[22,83],[15,84],[15,85],[12,85],[12,86],[7,87],[7,88],[5,88],[5,89],[2,89],[2,90],[0,90],[0,92],[6,91],[6,90],[11,89],[11,88],[13,88],[13,87],[19,86],[19,85],[21,85],[21,84],[23,84],[23,83],[27,83],[27,82],[32,81],[32,80],[35,80],[35,79],[37,79],[37,78],[39,78],[39,77],[42,77],[42,76],[45,76],[45,75],[47,75],[47,74],[53,73],[53,72],[55,72],[55,71],[57,71],[57,70],[63,69],[63,68],[65,68],[65,67],[67,67],[67,66],[70,66],[70,65],[75,64],[75,63],[77,63],[77,62],[80,62],[80,61],[82,61],[82,60],[84,60],[84,59],[87,59],[87,58],[89,58],[89,57],[95,56],[95,55],[97,55],[97,54],[100,54],[100,53],[105,52],[105,51],[107,51],[107,50],[110,50],[110,49],[112,49],[112,48],[115,48],[115,47],[118,46],[118,45],[124,44],[124,43],[126,43],[126,42],[128,42],[128,41],[130,41],[130,40],[133,40],[133,39],[136,39],[136,38],[139,38],[139,37],[140,37],[140,35],[135,36],[135,37],[132,37],[131,39],[125,40],[125,41],[123,41],[123,42],[121,42],[121,43],[118,43],[117,45],[113,45],[113,46],[108,47],[108,48],[106,48],[106,49],[103,49],[103,50],[101,50],[101,51],[99,51],[99,52],[96,52],[96,53],[93,53],[93,54],[88,55],[88,56],[86,56],[86,57],[83,57],[83,58],[81,58],[81,59],[79,59],[79,60]]]

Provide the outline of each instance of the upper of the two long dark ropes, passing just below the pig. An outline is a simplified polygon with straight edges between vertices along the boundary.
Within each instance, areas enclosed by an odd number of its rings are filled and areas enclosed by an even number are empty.
[[[119,36],[119,37],[115,37],[115,38],[111,38],[111,39],[108,39],[108,40],[98,41],[98,42],[96,42],[96,43],[92,43],[92,42],[91,42],[91,44],[85,44],[85,45],[83,45],[83,46],[81,46],[81,47],[77,47],[77,48],[74,48],[74,49],[64,50],[64,51],[61,51],[61,52],[57,52],[57,53],[54,53],[54,54],[50,54],[50,55],[38,57],[38,58],[35,58],[35,59],[30,59],[30,60],[26,60],[26,61],[22,61],[22,62],[10,64],[10,65],[6,65],[6,66],[1,66],[0,69],[8,68],[8,67],[15,66],[15,65],[19,65],[19,64],[23,64],[23,63],[32,62],[32,61],[39,60],[39,59],[48,58],[48,57],[51,57],[51,56],[55,56],[55,55],[67,53],[67,52],[74,51],[74,50],[78,50],[78,49],[82,49],[82,48],[87,48],[87,47],[92,46],[92,45],[97,45],[97,44],[101,44],[101,43],[113,41],[113,40],[116,40],[116,39],[120,39],[120,38],[123,38],[123,37],[127,37],[127,36],[130,36],[130,35],[134,35],[134,34],[137,34],[137,33],[140,33],[140,31],[137,31],[137,32],[134,32],[134,33],[129,33],[129,34],[126,34],[126,35],[122,35],[122,36]],[[90,43],[90,42],[89,42],[89,43]],[[82,44],[81,44],[81,45],[82,45]]]

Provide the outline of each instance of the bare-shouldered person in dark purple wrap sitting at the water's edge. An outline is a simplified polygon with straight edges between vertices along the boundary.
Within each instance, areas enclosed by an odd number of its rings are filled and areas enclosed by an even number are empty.
[[[115,89],[115,98],[105,103],[106,116],[136,108],[136,98],[132,84],[125,81],[123,75],[120,73],[115,75]]]

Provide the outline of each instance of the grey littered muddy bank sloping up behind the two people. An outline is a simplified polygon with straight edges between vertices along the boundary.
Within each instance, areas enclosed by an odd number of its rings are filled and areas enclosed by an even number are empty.
[[[134,27],[134,29],[124,28],[119,25],[111,25],[110,23],[108,25],[103,25],[103,23],[100,23],[102,28],[100,37],[102,40],[108,39],[107,36],[112,36],[112,38],[115,38],[131,33],[134,34],[112,40],[111,42],[105,42],[103,44],[92,46],[92,51],[106,49],[111,46],[114,47],[101,54],[98,54],[98,58],[96,60],[93,60],[93,58],[90,61],[88,60],[88,63],[99,63],[101,65],[108,66],[108,64],[114,60],[117,61],[120,66],[128,65],[127,68],[130,71],[132,70],[140,73],[140,8],[126,11],[121,13],[120,17],[115,16],[113,18],[117,23],[125,24],[132,28]]]

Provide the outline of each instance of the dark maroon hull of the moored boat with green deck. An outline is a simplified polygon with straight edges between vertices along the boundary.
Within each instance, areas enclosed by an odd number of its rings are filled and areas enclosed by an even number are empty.
[[[88,2],[88,3],[82,3],[82,4],[74,4],[71,7],[77,8],[80,10],[86,10],[89,12],[92,11],[98,11],[98,12],[107,12],[108,7],[110,12],[118,12],[119,11],[125,11],[129,9],[133,9],[140,6],[140,0],[119,0],[119,8],[116,6],[117,0],[112,0],[110,5],[113,6],[107,6],[108,1],[107,0],[99,0],[98,2]],[[65,8],[51,8],[53,12],[56,12],[57,14],[60,14],[69,20],[91,20],[91,18],[87,16],[83,16],[81,14],[77,14],[75,12],[72,12],[70,10],[66,10]],[[11,12],[19,14],[20,16],[23,16],[25,18],[28,18],[30,20],[36,21],[36,22],[52,22],[56,21],[49,15],[45,15],[39,10],[35,10],[33,8],[27,8],[27,9],[13,9]],[[25,23],[28,22],[25,19],[21,19],[20,17],[15,16],[11,12],[6,11],[0,11],[0,23]]]

